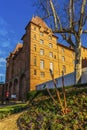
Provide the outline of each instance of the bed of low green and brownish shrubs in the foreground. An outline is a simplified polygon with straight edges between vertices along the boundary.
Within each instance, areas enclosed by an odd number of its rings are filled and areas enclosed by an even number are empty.
[[[46,94],[45,91],[39,91],[41,93],[38,92],[36,97],[43,96]],[[51,92],[54,94],[54,90]],[[24,130],[86,130],[87,88],[71,89],[71,91],[68,89],[66,95],[70,109],[67,115],[61,115],[59,103],[55,105],[49,98],[37,100],[37,103],[20,117]]]

